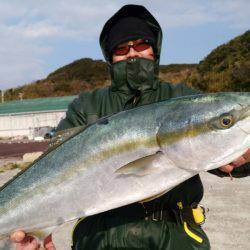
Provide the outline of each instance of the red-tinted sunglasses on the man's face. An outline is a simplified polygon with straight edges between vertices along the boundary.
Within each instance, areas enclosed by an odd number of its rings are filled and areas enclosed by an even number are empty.
[[[128,54],[130,48],[133,48],[137,52],[141,52],[143,50],[146,50],[150,48],[151,44],[148,40],[139,40],[139,41],[133,41],[133,44],[125,44],[125,45],[119,45],[114,48],[113,54],[116,56],[124,56]]]

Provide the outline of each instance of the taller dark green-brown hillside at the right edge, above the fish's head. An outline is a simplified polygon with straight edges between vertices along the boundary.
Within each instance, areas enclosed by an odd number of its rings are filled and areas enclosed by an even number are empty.
[[[250,91],[250,31],[213,50],[188,82],[207,92]]]

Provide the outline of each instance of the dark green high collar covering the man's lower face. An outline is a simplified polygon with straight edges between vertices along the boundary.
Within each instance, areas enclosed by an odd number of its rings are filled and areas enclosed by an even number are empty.
[[[145,58],[130,58],[111,65],[112,88],[125,92],[155,89],[158,81],[155,61]]]

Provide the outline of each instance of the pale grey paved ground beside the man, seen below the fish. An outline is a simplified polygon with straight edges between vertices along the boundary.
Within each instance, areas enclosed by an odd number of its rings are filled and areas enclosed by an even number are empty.
[[[0,166],[3,159],[0,160]],[[16,174],[10,170],[0,174],[0,186]],[[208,173],[201,175],[205,195],[202,203],[209,208],[204,229],[213,250],[250,249],[250,177],[219,178]],[[58,228],[53,240],[58,250],[70,250],[70,235],[74,223]],[[0,250],[13,249],[7,241],[0,241]]]

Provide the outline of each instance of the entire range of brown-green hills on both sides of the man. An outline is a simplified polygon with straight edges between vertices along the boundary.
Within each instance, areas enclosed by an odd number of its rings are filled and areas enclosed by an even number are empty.
[[[186,82],[205,92],[250,91],[250,31],[217,47],[199,64],[161,65],[159,78],[172,83]],[[45,79],[9,89],[5,99],[76,95],[109,84],[106,62],[83,58]]]

